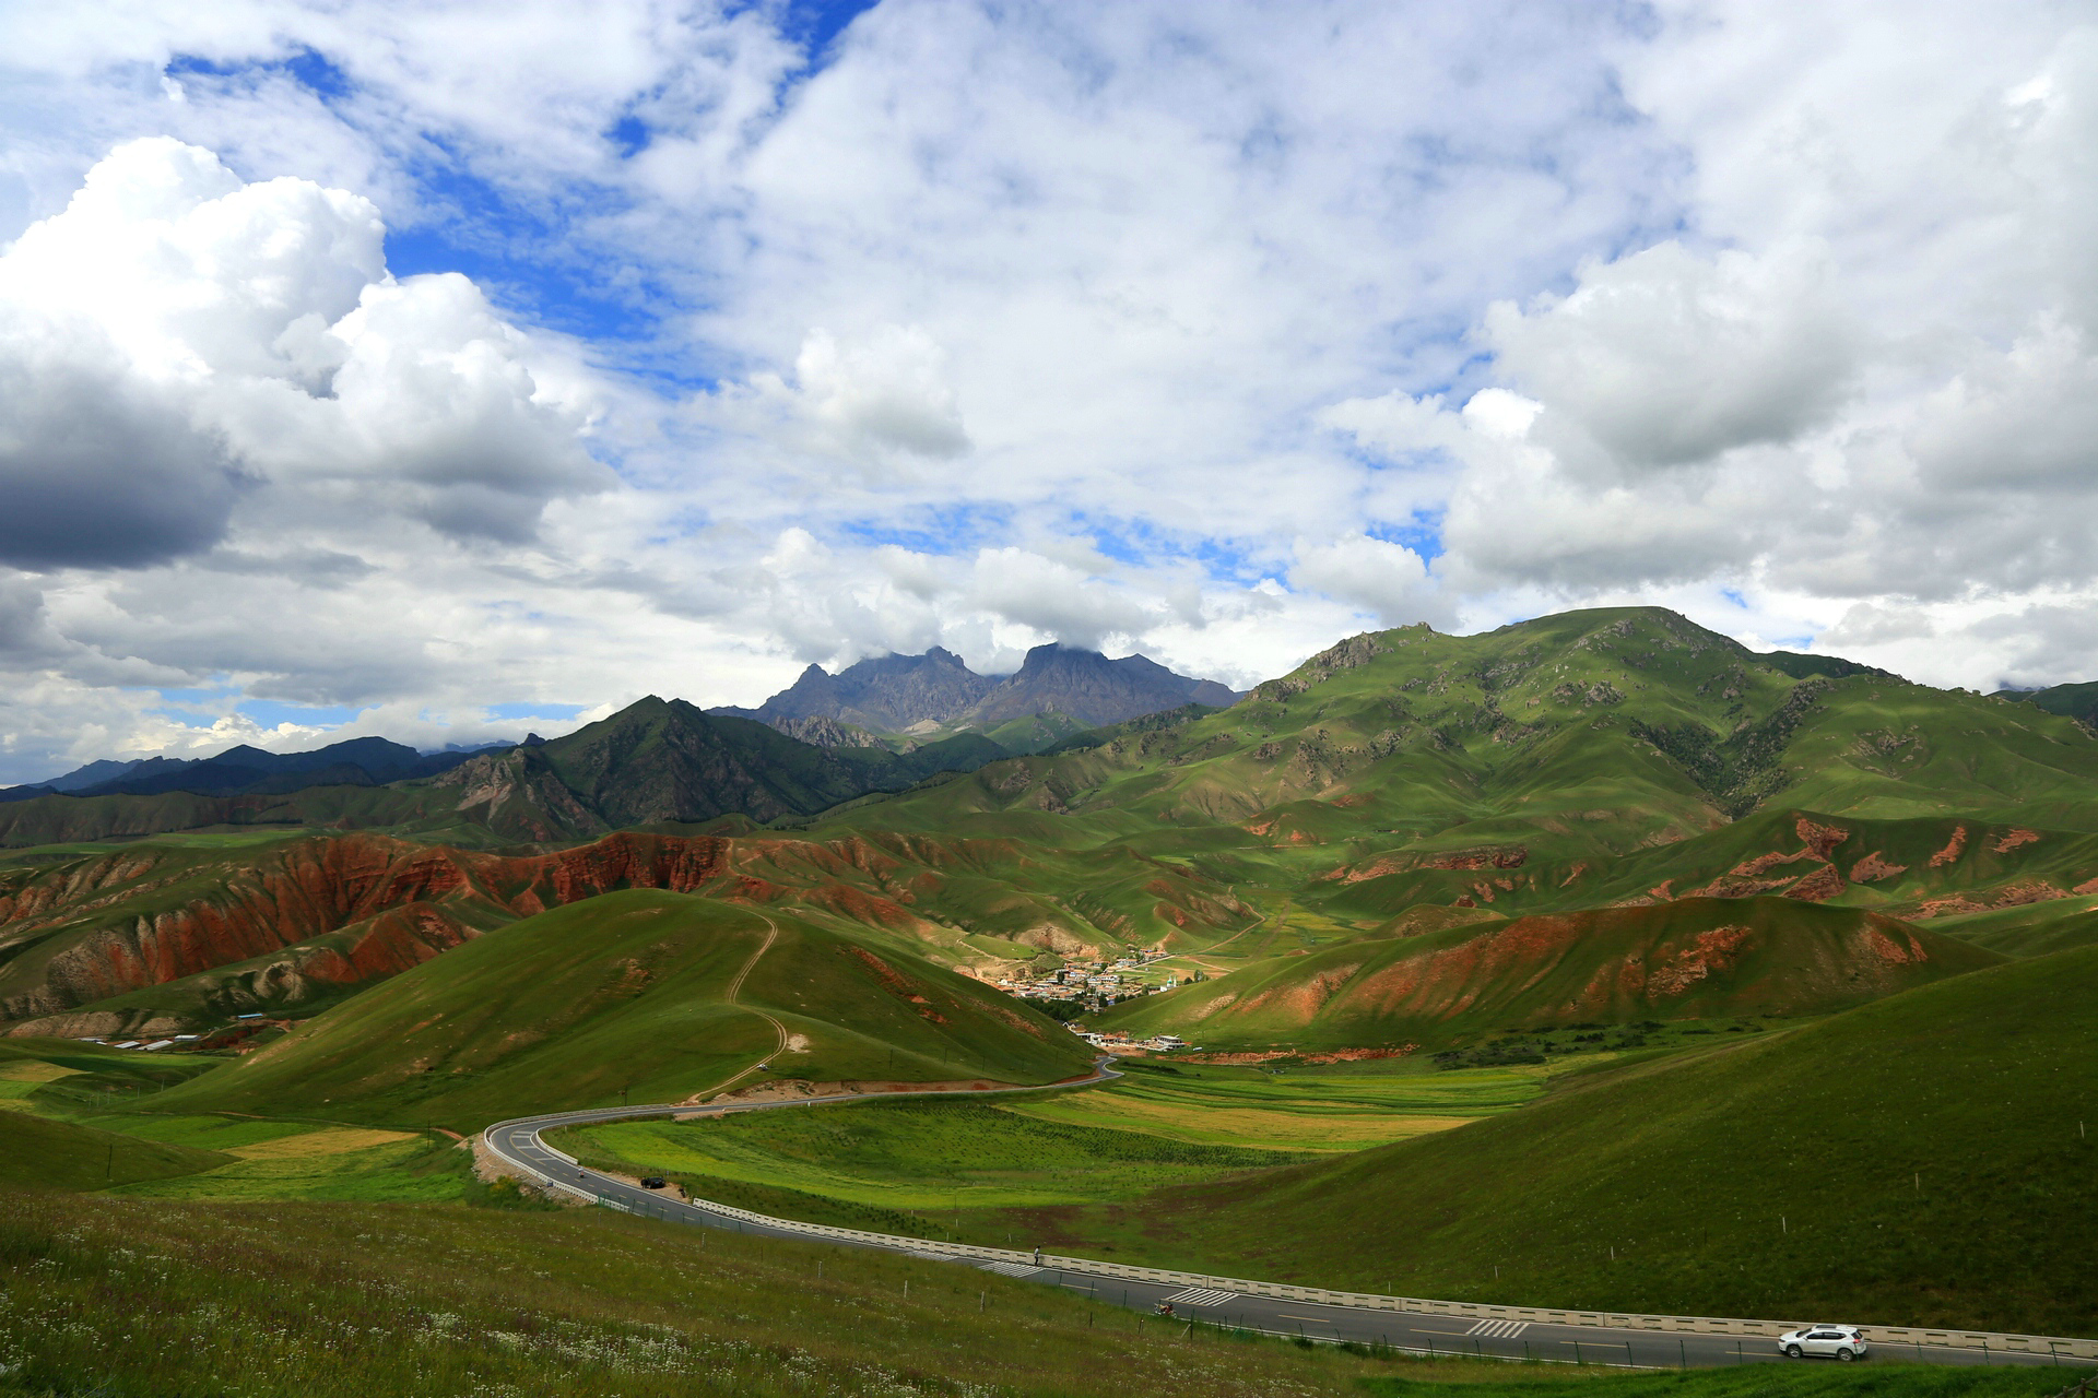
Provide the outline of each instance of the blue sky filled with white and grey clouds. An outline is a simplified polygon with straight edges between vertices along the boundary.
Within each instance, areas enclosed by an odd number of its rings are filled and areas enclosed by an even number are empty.
[[[0,6],[0,780],[1655,602],[2098,679],[2098,8]]]

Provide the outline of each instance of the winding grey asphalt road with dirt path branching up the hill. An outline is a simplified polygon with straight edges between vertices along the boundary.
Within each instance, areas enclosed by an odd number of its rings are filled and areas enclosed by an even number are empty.
[[[778,924],[772,926],[764,945],[751,954],[743,970],[730,985],[728,1000],[734,1002],[743,989],[743,981],[749,977],[751,966],[772,947],[778,937]],[[787,1044],[787,1027],[764,1010],[749,1008],[753,1014],[764,1017],[778,1029],[780,1048]],[[1076,1077],[1070,1082],[1045,1084],[1041,1088],[1003,1088],[997,1096],[1007,1096],[1015,1092],[1057,1092],[1066,1088],[1083,1088],[1091,1084],[1110,1082],[1120,1077],[1110,1065],[1112,1058],[1099,1058],[1089,1077]],[[722,1090],[732,1088],[751,1073],[757,1071],[757,1063],[749,1069],[736,1073],[724,1084],[715,1086],[705,1096],[713,1096]],[[925,1243],[894,1235],[871,1235],[860,1232],[852,1239],[810,1239],[810,1235],[785,1226],[785,1220],[762,1222],[757,1218],[745,1216],[741,1209],[726,1209],[722,1205],[707,1203],[705,1199],[684,1201],[676,1197],[665,1197],[659,1191],[638,1188],[625,1180],[600,1174],[596,1170],[585,1170],[569,1155],[554,1151],[541,1140],[541,1134],[562,1126],[592,1126],[600,1121],[619,1121],[625,1117],[663,1117],[676,1115],[678,1119],[692,1117],[713,1117],[730,1111],[785,1111],[820,1107],[827,1102],[860,1102],[860,1100],[894,1100],[902,1096],[992,1096],[992,1092],[969,1092],[969,1090],[929,1090],[929,1092],[839,1092],[833,1096],[812,1096],[799,1100],[780,1102],[736,1102],[722,1107],[684,1107],[684,1105],[655,1105],[655,1107],[611,1107],[592,1111],[558,1111],[541,1117],[520,1117],[514,1121],[499,1121],[491,1126],[483,1138],[499,1159],[510,1165],[522,1167],[527,1174],[541,1176],[560,1188],[592,1199],[596,1203],[623,1209],[627,1214],[638,1214],[642,1218],[661,1218],[667,1222],[699,1224],[711,1228],[730,1228],[736,1232],[751,1232],[757,1237],[776,1237],[793,1241],[827,1241],[839,1247],[869,1247],[881,1251],[894,1251],[915,1258],[927,1258],[934,1262],[950,1262],[959,1266],[978,1266],[1005,1276],[1015,1276],[1022,1281],[1034,1281],[1051,1287],[1062,1287],[1066,1291],[1076,1291],[1089,1299],[1097,1299],[1104,1306],[1118,1306],[1139,1312],[1152,1312],[1158,1304],[1171,1304],[1175,1316],[1183,1320],[1202,1320],[1208,1325],[1232,1325],[1253,1331],[1265,1331],[1271,1335],[1303,1335],[1309,1339],[1324,1341],[1357,1341],[1357,1344],[1383,1344],[1395,1350],[1412,1350],[1420,1354],[1477,1354],[1492,1358],[1538,1358],[1538,1360],[1563,1360],[1563,1362],[1586,1362],[1586,1364],[1632,1364],[1643,1369],[1676,1369],[1676,1367],[1722,1367],[1722,1364],[1762,1364],[1762,1362],[1783,1362],[1777,1354],[1775,1341],[1769,1337],[1739,1337],[1739,1335],[1716,1335],[1716,1333],[1691,1333],[1691,1331],[1647,1331],[1647,1329],[1611,1329],[1599,1325],[1553,1325],[1542,1320],[1513,1320],[1513,1318],[1483,1318],[1473,1320],[1469,1316],[1446,1316],[1433,1312],[1408,1312],[1408,1310],[1385,1310],[1372,1308],[1368,1304],[1330,1304],[1330,1302],[1299,1302],[1269,1295],[1248,1295],[1244,1291],[1225,1291],[1213,1287],[1187,1287],[1181,1283],[1150,1283],[1150,1281],[1125,1281],[1120,1276],[1108,1276],[1076,1258],[1041,1258],[1041,1253],[1001,1253],[999,1258],[952,1258],[944,1253],[927,1251]],[[1036,1260],[1041,1264],[1036,1266]],[[1840,1316],[1832,1316],[1838,1318]],[[1874,1339],[1871,1327],[1865,1329],[1867,1339]],[[2073,1360],[2069,1356],[2048,1356],[2031,1354],[2018,1350],[1968,1350],[1953,1346],[1909,1346],[1909,1344],[1888,1344],[1876,1341],[1874,1354],[1892,1358],[1926,1360],[1934,1364],[2064,1364],[2064,1362],[2090,1362]],[[1834,1360],[1829,1360],[1834,1362]]]

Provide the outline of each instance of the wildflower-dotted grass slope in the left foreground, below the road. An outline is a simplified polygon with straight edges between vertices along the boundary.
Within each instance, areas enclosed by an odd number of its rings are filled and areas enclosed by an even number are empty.
[[[1462,1375],[1185,1335],[950,1264],[598,1209],[0,1195],[0,1394],[1360,1394]]]

